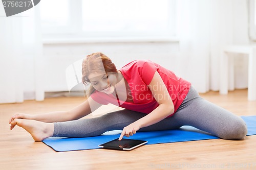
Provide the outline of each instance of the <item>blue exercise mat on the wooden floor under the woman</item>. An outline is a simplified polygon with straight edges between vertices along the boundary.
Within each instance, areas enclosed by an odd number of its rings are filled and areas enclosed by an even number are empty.
[[[256,134],[256,116],[242,116],[245,120],[248,135]],[[42,142],[58,152],[98,149],[98,145],[110,140],[119,138],[121,131],[109,131],[100,136],[82,137],[82,138],[65,138],[65,137],[50,137]],[[124,137],[127,138],[127,137]],[[171,143],[193,140],[218,139],[209,133],[190,126],[183,126],[177,130],[137,132],[129,139],[147,140],[147,144]]]

